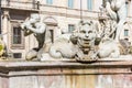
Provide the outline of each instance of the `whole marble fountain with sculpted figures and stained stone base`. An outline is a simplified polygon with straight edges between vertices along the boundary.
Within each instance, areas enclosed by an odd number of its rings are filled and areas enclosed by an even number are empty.
[[[98,22],[82,20],[54,42],[40,14],[31,14],[21,28],[25,36],[34,34],[38,46],[24,62],[0,62],[0,88],[131,88],[132,61],[119,38],[125,0],[103,3]]]

